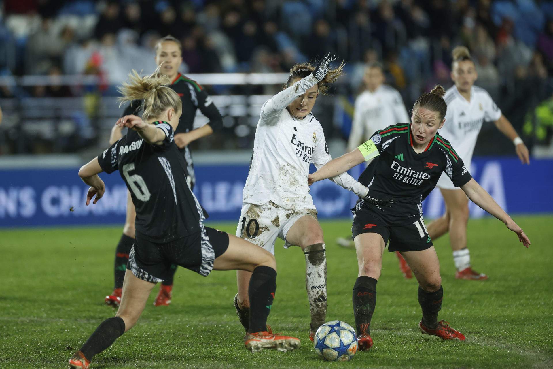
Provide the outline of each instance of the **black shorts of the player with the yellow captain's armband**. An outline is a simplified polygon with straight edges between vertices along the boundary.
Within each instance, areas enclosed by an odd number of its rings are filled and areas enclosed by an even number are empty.
[[[353,238],[361,233],[378,233],[384,239],[384,245],[389,242],[388,251],[421,251],[434,244],[426,231],[424,219],[420,216],[414,223],[403,226],[390,226],[366,206],[353,212],[351,232]]]

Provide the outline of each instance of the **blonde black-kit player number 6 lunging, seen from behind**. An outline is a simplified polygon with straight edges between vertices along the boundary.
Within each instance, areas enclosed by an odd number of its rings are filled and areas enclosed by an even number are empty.
[[[148,77],[135,71],[123,84],[122,101],[142,100],[142,119],[118,120],[129,129],[111,147],[79,170],[88,185],[86,204],[105,191],[98,173],[119,170],[136,209],[136,240],[129,253],[121,305],[69,360],[70,368],[85,368],[92,357],[131,329],[144,310],[152,288],[171,273],[171,264],[208,276],[212,269],[253,272],[249,284],[250,329],[244,337],[248,350],[281,351],[300,346],[294,337],[267,332],[267,316],[276,290],[274,256],[236,236],[204,226],[204,212],[186,183],[186,162],[174,142],[182,103],[170,80],[158,69]],[[144,120],[143,120],[144,119]]]

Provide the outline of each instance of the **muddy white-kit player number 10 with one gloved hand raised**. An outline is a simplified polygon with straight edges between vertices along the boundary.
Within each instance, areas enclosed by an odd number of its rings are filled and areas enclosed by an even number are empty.
[[[311,313],[310,339],[326,319],[326,256],[322,230],[307,176],[309,164],[320,168],[332,159],[321,124],[311,110],[319,93],[342,74],[343,63],[330,69],[328,55],[317,67],[309,63],[290,70],[285,89],[263,104],[243,206],[236,235],[274,254],[276,238],[285,248],[299,246],[305,253],[306,288]],[[347,173],[331,179],[360,197],[368,189]],[[234,297],[238,317],[248,329],[248,284],[251,273],[238,272]]]

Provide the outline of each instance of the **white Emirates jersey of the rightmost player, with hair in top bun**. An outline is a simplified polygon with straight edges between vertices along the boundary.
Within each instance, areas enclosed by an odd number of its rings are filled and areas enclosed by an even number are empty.
[[[486,90],[476,86],[471,88],[470,102],[461,95],[455,85],[446,91],[444,100],[447,113],[440,134],[451,142],[457,154],[470,165],[483,122],[497,121],[501,117],[501,110]]]

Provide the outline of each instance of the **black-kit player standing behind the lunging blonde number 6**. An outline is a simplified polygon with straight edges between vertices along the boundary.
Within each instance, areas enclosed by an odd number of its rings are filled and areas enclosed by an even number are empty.
[[[187,164],[186,180],[190,189],[194,190],[196,176],[194,174],[194,164],[188,144],[196,139],[209,136],[215,131],[221,129],[223,120],[221,113],[207,95],[202,86],[179,73],[179,67],[182,63],[182,46],[180,41],[174,37],[166,36],[161,38],[155,46],[155,63],[161,65],[161,73],[167,75],[171,80],[171,89],[175,90],[180,96],[182,102],[182,115],[179,120],[179,126],[175,130],[175,143],[178,146]],[[163,64],[163,65],[162,65]],[[132,101],[123,116],[138,115],[140,101]],[[200,111],[209,119],[205,126],[194,129],[194,118],[196,111]],[[113,127],[109,144],[113,144],[122,136],[123,127],[117,124]],[[134,206],[131,201],[131,195],[127,199],[127,217],[123,227],[123,235],[119,240],[116,249],[114,262],[114,287],[111,295],[106,296],[105,302],[114,308],[119,306],[121,301],[121,288],[123,287],[123,278],[125,268],[129,258],[129,251],[134,243]],[[173,278],[176,271],[176,265],[171,267],[172,273],[161,283],[158,296],[154,301],[154,306],[169,305],[171,303],[171,290],[173,289]]]

